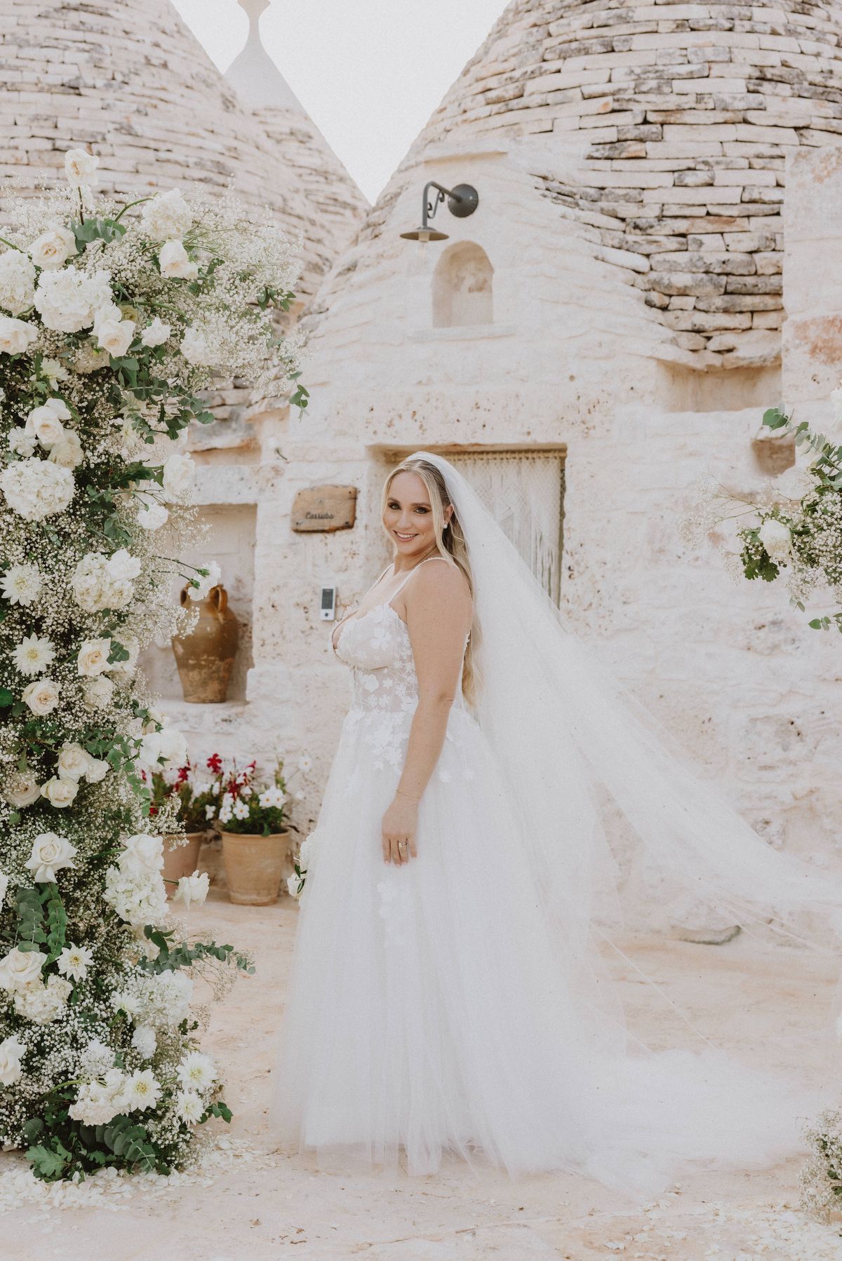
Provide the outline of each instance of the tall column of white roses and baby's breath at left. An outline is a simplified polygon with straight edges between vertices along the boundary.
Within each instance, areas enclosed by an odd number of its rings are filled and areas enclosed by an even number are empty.
[[[167,927],[175,802],[153,815],[141,772],[187,749],[138,654],[194,617],[173,576],[212,580],[173,559],[199,391],[297,377],[283,235],[232,198],[95,206],[96,165],[71,150],[67,188],[10,199],[0,238],[0,1142],[44,1179],[167,1173],[230,1116],[189,1000],[251,965]]]

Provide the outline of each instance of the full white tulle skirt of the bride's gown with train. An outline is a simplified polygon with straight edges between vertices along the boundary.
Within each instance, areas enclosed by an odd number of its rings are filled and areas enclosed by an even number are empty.
[[[410,721],[355,709],[342,728],[283,1016],[280,1145],[314,1150],[323,1168],[409,1174],[452,1153],[511,1177],[584,1174],[632,1197],[688,1165],[762,1168],[800,1150],[815,1101],[792,1082],[707,1048],[630,1054],[621,1013],[606,1016],[612,995],[595,992],[590,1019],[465,710],[451,712],[419,807],[418,856],[384,863],[380,825]]]

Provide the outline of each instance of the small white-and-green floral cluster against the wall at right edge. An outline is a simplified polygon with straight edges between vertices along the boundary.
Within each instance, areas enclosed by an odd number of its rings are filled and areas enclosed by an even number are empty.
[[[768,429],[792,434],[797,446],[814,454],[795,473],[802,483],[797,497],[770,483],[756,501],[745,501],[713,478],[703,478],[702,511],[684,523],[683,533],[694,538],[698,526],[707,531],[726,520],[754,517],[737,531],[742,545],[738,572],[750,580],[774,583],[785,571],[790,604],[802,613],[812,595],[829,591],[839,608],[812,618],[808,625],[842,632],[842,387],[833,391],[831,401],[834,420],[829,435],[813,433],[807,421],[794,424],[780,407],[764,412]]]

